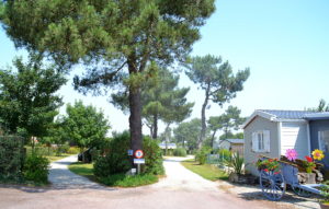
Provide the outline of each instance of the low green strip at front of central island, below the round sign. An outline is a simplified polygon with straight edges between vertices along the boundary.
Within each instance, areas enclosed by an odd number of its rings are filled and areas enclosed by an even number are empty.
[[[125,174],[113,174],[107,177],[100,178],[100,183],[107,186],[120,186],[120,187],[136,187],[143,185],[149,185],[158,182],[158,177],[152,174],[141,174],[129,176]]]

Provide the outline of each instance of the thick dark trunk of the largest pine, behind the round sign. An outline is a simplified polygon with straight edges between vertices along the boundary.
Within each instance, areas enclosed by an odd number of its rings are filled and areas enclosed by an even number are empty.
[[[129,74],[138,73],[135,65],[128,62]],[[131,149],[134,151],[143,149],[141,137],[141,102],[140,102],[140,88],[137,85],[129,85],[129,128],[131,128]],[[133,160],[132,160],[133,163]]]

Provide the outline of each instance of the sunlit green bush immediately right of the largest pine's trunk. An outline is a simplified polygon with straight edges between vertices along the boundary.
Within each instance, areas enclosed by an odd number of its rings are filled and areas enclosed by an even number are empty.
[[[143,167],[143,172],[146,174],[155,175],[164,174],[162,152],[158,144],[158,141],[149,137],[144,137],[143,143],[143,151],[145,153],[145,166]]]

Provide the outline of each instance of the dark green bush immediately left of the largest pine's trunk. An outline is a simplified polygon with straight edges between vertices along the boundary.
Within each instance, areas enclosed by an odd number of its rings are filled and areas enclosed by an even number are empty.
[[[125,173],[132,165],[127,150],[129,149],[131,137],[127,131],[116,135],[109,146],[105,156],[100,156],[94,162],[94,175],[106,177],[112,174]]]

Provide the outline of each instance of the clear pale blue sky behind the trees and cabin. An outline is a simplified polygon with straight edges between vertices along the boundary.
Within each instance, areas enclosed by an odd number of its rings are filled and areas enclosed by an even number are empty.
[[[216,7],[201,28],[202,39],[193,46],[193,55],[222,56],[235,71],[250,68],[245,90],[230,103],[241,108],[243,116],[258,108],[304,109],[317,106],[320,98],[329,102],[329,1],[217,0]],[[1,28],[0,67],[22,54]],[[195,102],[191,118],[200,117],[203,92],[185,76],[180,85],[191,86],[188,98]],[[66,103],[81,98],[102,108],[113,130],[128,128],[128,116],[115,109],[106,97],[83,96],[72,90],[71,81],[59,94]],[[213,104],[207,116],[223,111]]]

